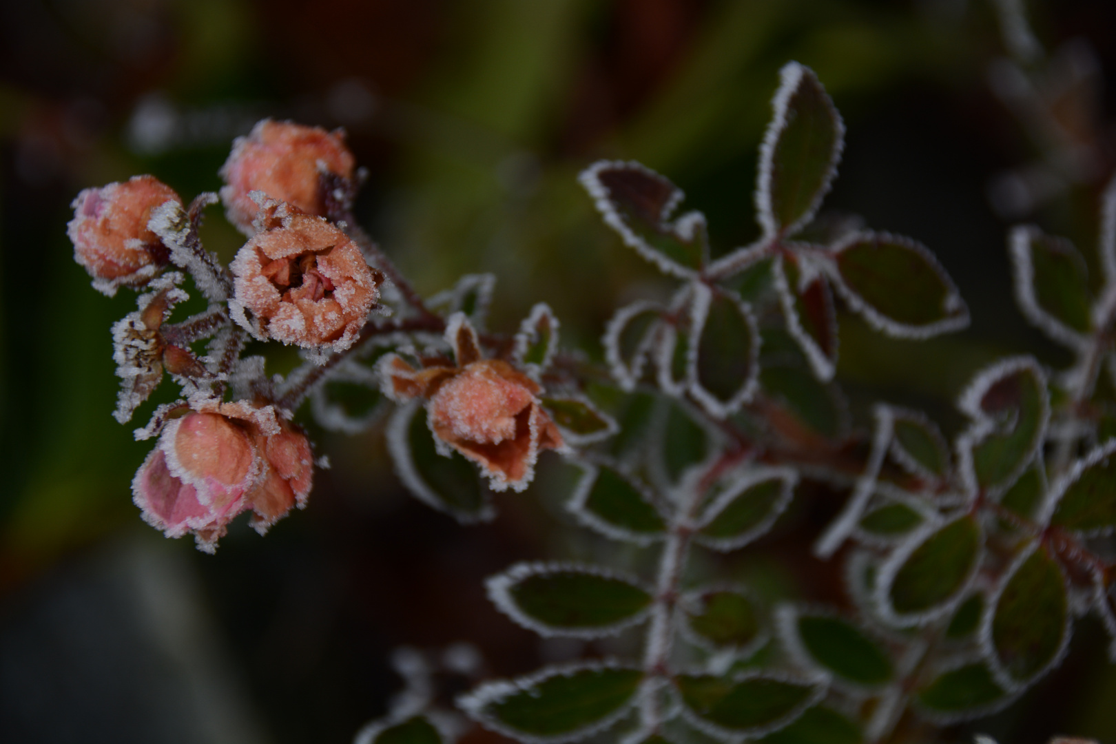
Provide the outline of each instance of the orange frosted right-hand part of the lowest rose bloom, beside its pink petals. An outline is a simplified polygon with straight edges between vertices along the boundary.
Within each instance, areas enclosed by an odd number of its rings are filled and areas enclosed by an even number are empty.
[[[280,423],[280,432],[257,437],[263,455],[263,475],[248,495],[254,512],[252,526],[263,534],[296,505],[306,506],[314,475],[314,455],[306,435],[290,424]]]

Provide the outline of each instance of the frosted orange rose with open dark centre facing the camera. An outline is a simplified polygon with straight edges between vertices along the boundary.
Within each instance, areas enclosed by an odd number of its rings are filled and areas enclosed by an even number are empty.
[[[379,297],[383,277],[327,220],[289,204],[269,203],[261,213],[261,223],[273,226],[249,240],[230,265],[233,318],[259,338],[348,348]]]

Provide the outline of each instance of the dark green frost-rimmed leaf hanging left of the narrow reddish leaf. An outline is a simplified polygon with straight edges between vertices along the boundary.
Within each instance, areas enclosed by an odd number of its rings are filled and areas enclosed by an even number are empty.
[[[695,354],[687,369],[690,394],[724,418],[756,392],[759,331],[751,310],[728,292],[698,284],[693,303]]]

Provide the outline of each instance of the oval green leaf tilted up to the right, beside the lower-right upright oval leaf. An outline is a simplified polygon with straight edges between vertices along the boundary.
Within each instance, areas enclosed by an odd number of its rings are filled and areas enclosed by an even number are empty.
[[[885,619],[907,625],[947,612],[977,570],[982,542],[980,524],[963,515],[899,547],[881,568]]]

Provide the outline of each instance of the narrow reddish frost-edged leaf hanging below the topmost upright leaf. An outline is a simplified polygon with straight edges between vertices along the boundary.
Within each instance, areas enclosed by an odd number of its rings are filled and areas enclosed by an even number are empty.
[[[829,282],[815,271],[798,271],[799,281],[791,286],[783,259],[772,264],[776,292],[787,319],[787,331],[801,347],[814,375],[822,383],[837,371],[837,312]],[[804,284],[805,281],[805,284]],[[801,305],[801,308],[799,308]],[[805,317],[802,310],[815,317]],[[819,317],[820,316],[820,317]],[[809,322],[809,330],[804,321]]]

